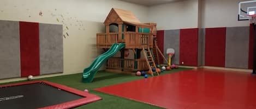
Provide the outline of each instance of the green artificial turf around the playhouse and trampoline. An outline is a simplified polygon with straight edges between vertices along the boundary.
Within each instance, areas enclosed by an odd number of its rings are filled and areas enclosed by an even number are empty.
[[[160,75],[180,72],[182,70],[188,70],[189,68],[178,68],[172,69],[168,71],[164,71]],[[148,76],[148,78],[152,78]],[[144,76],[134,76],[134,75],[126,75],[126,74],[116,74],[110,72],[99,71],[92,83],[83,83],[82,80],[82,73],[79,74],[71,74],[71,75],[63,75],[63,76],[55,76],[51,78],[41,78],[35,80],[46,80],[50,82],[55,82],[57,84],[66,85],[68,87],[73,87],[83,91],[84,89],[88,89],[90,93],[96,94],[99,97],[103,98],[103,100],[92,102],[91,104],[83,105],[76,108],[162,108],[153,106],[150,104],[145,104],[143,102],[138,102],[134,100],[129,100],[126,98],[117,97],[115,95],[110,95],[102,92],[94,91],[94,88],[100,88],[115,84],[121,84],[123,82],[129,82],[134,80],[144,79]],[[24,82],[24,81],[16,81],[16,82],[8,82],[4,84],[12,84],[17,82]],[[1,84],[0,84],[1,85]]]

